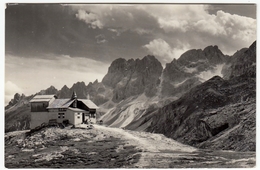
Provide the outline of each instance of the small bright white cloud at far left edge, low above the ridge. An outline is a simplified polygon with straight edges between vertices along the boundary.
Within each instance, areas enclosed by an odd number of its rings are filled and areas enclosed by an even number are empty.
[[[15,93],[21,94],[23,90],[11,81],[5,82],[5,105],[13,99]]]

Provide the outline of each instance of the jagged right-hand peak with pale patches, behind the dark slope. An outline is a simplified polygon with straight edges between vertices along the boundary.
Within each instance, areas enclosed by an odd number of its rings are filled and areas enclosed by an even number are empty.
[[[181,95],[191,87],[207,80],[209,76],[220,75],[227,60],[228,57],[217,46],[185,52],[179,59],[166,64],[163,71],[162,94]],[[183,87],[181,87],[182,83],[184,83]]]

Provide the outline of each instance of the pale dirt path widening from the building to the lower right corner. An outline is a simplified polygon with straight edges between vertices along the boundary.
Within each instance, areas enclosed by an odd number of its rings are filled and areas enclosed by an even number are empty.
[[[104,134],[125,140],[142,152],[133,168],[247,168],[255,166],[254,152],[211,151],[181,144],[161,134],[95,125]]]

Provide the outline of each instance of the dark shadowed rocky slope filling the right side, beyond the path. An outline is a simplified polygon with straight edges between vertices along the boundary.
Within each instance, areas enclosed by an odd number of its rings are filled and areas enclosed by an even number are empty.
[[[229,80],[215,76],[157,109],[147,130],[201,148],[255,151],[255,43],[233,60]]]

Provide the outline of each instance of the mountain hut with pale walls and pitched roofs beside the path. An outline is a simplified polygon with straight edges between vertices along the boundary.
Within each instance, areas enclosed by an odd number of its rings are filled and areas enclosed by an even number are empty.
[[[78,99],[73,92],[70,99],[58,99],[56,95],[36,95],[31,104],[31,123],[33,129],[50,120],[79,125],[82,123],[96,123],[98,107],[90,99]]]

